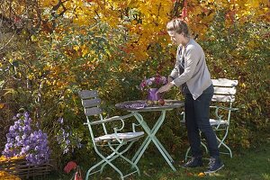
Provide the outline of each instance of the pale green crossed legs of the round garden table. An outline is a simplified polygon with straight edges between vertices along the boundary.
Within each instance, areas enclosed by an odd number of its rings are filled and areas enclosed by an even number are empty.
[[[142,143],[142,145],[139,147],[139,150],[135,154],[135,156],[132,158],[132,161],[136,165],[139,162],[139,158],[143,155],[146,148],[148,148],[148,145],[150,141],[153,141],[156,145],[157,149],[161,153],[161,155],[166,159],[166,162],[169,166],[175,171],[175,167],[172,165],[172,162],[174,162],[173,158],[168,154],[166,149],[162,146],[160,141],[157,139],[155,134],[157,133],[157,130],[162,125],[163,121],[165,120],[166,111],[162,111],[160,117],[158,118],[157,122],[155,123],[152,130],[149,129],[148,124],[143,120],[143,117],[139,114],[139,112],[134,112],[134,115],[136,119],[141,124],[142,128],[148,133],[147,139],[145,139]]]

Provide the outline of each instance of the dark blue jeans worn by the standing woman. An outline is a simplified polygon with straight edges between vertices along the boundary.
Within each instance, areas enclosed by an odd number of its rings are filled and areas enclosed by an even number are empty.
[[[206,139],[211,157],[220,157],[216,135],[209,121],[209,109],[213,86],[205,89],[200,97],[193,99],[192,94],[184,94],[184,112],[187,137],[193,157],[202,157],[200,131]]]

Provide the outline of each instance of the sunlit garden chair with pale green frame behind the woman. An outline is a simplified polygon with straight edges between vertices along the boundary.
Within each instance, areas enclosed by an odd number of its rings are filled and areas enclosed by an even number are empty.
[[[214,94],[211,98],[211,112],[213,116],[210,119],[210,124],[213,130],[216,131],[216,138],[219,143],[220,154],[227,154],[232,157],[232,152],[225,140],[229,133],[230,115],[231,112],[238,110],[233,108],[232,105],[235,102],[236,86],[238,80],[230,80],[227,78],[211,79],[214,87]],[[182,112],[184,117],[184,112]],[[184,123],[184,118],[180,121]],[[202,135],[202,133],[201,133]],[[201,141],[202,147],[205,148],[208,153],[207,146]],[[222,148],[222,149],[221,149]],[[189,156],[190,148],[186,150],[185,160]]]

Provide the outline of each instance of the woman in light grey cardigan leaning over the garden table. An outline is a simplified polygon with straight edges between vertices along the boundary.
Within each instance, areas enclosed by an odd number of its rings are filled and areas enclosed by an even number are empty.
[[[204,52],[202,47],[190,38],[188,27],[183,21],[172,20],[167,23],[166,30],[173,43],[178,45],[176,63],[168,76],[168,83],[160,87],[157,93],[166,92],[174,85],[181,86],[184,94],[185,126],[193,156],[184,167],[202,166],[201,130],[211,156],[205,173],[216,172],[224,165],[220,160],[218,142],[209,121],[213,86]]]

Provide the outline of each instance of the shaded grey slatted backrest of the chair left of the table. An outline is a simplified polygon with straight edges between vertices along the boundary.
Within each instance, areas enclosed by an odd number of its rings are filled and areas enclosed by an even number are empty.
[[[103,110],[99,107],[101,99],[98,98],[98,93],[96,90],[82,90],[78,92],[78,94],[85,109],[85,116],[100,115],[103,113]]]

